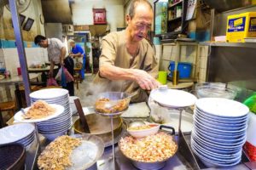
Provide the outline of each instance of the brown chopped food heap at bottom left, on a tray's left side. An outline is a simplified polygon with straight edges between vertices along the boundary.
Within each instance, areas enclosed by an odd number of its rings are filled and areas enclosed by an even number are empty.
[[[67,135],[58,137],[38,157],[38,167],[44,170],[62,170],[72,166],[69,156],[81,144],[80,139]]]

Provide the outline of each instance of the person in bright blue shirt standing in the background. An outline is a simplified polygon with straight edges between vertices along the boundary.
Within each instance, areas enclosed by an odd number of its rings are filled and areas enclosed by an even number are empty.
[[[76,44],[72,39],[68,40],[68,43],[72,48],[69,56],[73,57],[73,59],[76,59],[76,61],[82,64],[82,69],[80,73],[81,73],[82,79],[84,80],[84,68],[85,68],[85,61],[86,61],[86,55],[84,53],[84,49],[81,46],[79,46],[79,44]],[[79,65],[76,65],[76,64],[75,66],[79,67]]]

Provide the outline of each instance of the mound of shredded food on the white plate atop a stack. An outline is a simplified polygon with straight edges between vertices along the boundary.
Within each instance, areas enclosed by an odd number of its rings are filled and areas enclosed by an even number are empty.
[[[24,119],[40,119],[55,113],[55,108],[43,100],[36,101],[29,110],[22,115]]]

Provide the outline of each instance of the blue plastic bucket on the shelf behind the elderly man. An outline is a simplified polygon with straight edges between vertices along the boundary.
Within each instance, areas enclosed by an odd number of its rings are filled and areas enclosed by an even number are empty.
[[[168,69],[169,69],[169,71],[171,71],[169,76],[172,77],[172,71],[174,71],[174,69],[175,69],[174,61],[170,62]],[[177,63],[177,71],[179,73],[179,78],[189,78],[191,75],[191,70],[192,70],[191,63],[185,63],[185,62]]]

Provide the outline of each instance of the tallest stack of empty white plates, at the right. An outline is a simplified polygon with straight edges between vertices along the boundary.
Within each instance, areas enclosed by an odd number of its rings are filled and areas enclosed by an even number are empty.
[[[231,99],[195,102],[191,147],[207,167],[230,167],[241,161],[248,112],[246,105]]]

